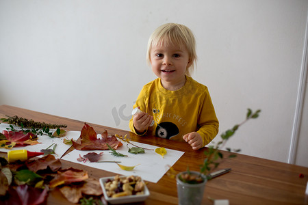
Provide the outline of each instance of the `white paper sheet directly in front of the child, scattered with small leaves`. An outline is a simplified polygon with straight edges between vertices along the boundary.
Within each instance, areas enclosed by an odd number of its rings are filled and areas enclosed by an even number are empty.
[[[169,165],[170,167],[174,165],[177,160],[184,154],[184,152],[177,151],[177,150],[167,150],[167,154],[164,156],[164,158],[157,154],[155,152],[155,148],[158,148],[157,146],[151,146],[144,143],[138,143],[135,141],[131,141],[136,146],[140,146],[142,148],[150,148],[153,150],[144,150],[144,154],[131,154],[128,152],[127,148],[127,142],[123,142],[123,146],[118,148],[116,152],[120,152],[122,154],[125,154],[127,156],[112,156],[110,154],[110,150],[88,150],[88,151],[80,151],[80,150],[73,150],[72,152],[66,154],[62,157],[62,159],[66,161],[71,161],[74,163],[80,163],[82,165],[86,165],[89,167],[95,167],[98,169],[103,169],[108,172],[114,172],[116,174],[130,176],[130,175],[138,175],[141,176],[143,180],[149,181],[149,182],[158,182],[162,176],[168,171]],[[131,144],[128,144],[129,148],[133,147]],[[103,152],[100,161],[121,161],[121,165],[125,166],[135,166],[137,165],[133,170],[131,171],[125,171],[123,169],[120,169],[116,163],[91,163],[90,161],[79,162],[77,161],[77,158],[79,157],[79,154],[81,156],[84,156],[88,154],[88,152],[96,152],[99,154],[100,152]],[[112,174],[112,176],[115,176],[115,174]]]

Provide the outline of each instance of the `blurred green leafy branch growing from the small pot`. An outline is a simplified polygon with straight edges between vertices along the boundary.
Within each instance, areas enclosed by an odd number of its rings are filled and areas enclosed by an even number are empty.
[[[248,109],[246,114],[246,120],[244,120],[240,124],[235,124],[233,128],[222,133],[220,135],[221,140],[218,141],[214,146],[209,146],[209,148],[205,150],[204,154],[206,158],[203,162],[203,165],[201,165],[201,170],[200,170],[201,174],[206,175],[211,169],[215,169],[216,167],[218,167],[219,165],[218,159],[223,159],[224,157],[222,152],[220,152],[220,149],[224,147],[225,143],[227,143],[230,137],[232,137],[235,134],[235,132],[238,131],[238,128],[240,128],[240,126],[245,124],[248,120],[258,118],[260,112],[261,110],[253,112],[251,109]],[[231,151],[240,152],[240,149],[231,150],[231,148],[226,148],[226,150],[230,152],[229,158],[236,156],[236,154],[231,153]]]

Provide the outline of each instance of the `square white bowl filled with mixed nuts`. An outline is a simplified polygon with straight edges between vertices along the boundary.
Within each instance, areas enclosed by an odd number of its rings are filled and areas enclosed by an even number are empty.
[[[143,202],[150,195],[140,176],[112,176],[99,179],[105,200],[110,204]]]

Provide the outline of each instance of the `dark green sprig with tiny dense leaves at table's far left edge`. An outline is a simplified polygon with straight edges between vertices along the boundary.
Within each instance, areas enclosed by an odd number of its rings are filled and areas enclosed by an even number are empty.
[[[55,131],[57,135],[60,135],[61,129],[60,127],[66,127],[65,124],[47,124],[44,122],[35,122],[34,120],[27,120],[25,118],[18,118],[18,116],[13,116],[8,118],[1,118],[2,122],[8,122],[10,124],[10,128],[6,128],[10,131],[23,131],[23,133],[32,133],[34,135],[48,135],[49,137],[53,136],[53,133],[50,132],[51,128],[57,128]],[[21,129],[15,129],[12,124],[16,126],[20,126]]]

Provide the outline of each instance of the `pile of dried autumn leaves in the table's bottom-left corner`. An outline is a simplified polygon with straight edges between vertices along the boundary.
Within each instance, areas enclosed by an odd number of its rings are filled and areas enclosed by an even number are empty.
[[[84,170],[62,169],[51,154],[40,159],[8,163],[0,158],[0,200],[3,204],[44,204],[49,191],[59,191],[72,203],[85,196],[100,198],[99,181]]]

